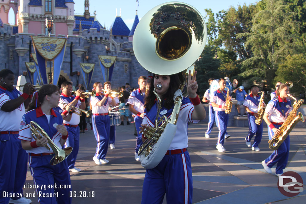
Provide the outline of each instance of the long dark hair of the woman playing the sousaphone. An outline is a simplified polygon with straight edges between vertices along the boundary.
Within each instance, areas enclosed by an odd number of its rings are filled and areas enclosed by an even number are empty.
[[[153,92],[155,75],[156,74],[153,74],[153,78],[150,83],[149,94],[145,98],[145,102],[144,102],[144,107],[147,109],[147,111],[149,111],[155,103],[156,96]],[[180,88],[182,84],[184,84],[184,81],[185,81],[185,76],[183,75],[182,72],[169,75],[169,77],[170,77],[170,84],[169,84],[168,91],[161,97],[162,101],[165,99],[163,106],[167,109],[172,108],[174,104],[174,101],[173,101],[174,93],[177,89]]]

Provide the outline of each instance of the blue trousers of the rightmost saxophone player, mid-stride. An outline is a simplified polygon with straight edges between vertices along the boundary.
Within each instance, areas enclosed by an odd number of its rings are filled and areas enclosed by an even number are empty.
[[[281,127],[281,125],[274,125],[275,128]],[[274,136],[274,132],[272,129],[268,126],[268,134],[269,139],[272,139]],[[276,163],[276,170],[275,173],[282,174],[283,169],[286,168],[288,157],[289,157],[289,145],[290,145],[290,139],[289,135],[285,139],[285,141],[278,147],[277,150],[274,150],[273,153],[268,157],[265,162],[268,167],[274,166]]]

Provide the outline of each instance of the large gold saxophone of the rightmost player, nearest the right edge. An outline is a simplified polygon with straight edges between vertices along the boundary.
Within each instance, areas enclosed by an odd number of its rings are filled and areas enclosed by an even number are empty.
[[[297,114],[297,110],[299,107],[303,104],[304,100],[300,99],[297,102],[297,99],[294,98],[292,95],[288,94],[291,98],[294,99],[293,103],[293,110],[289,113],[288,117],[286,118],[285,122],[282,124],[280,128],[279,134],[275,134],[272,139],[268,141],[269,148],[271,150],[277,150],[278,147],[284,142],[284,140],[287,138],[289,133],[292,131],[294,126],[299,122],[302,121],[304,123],[305,119],[301,112]]]

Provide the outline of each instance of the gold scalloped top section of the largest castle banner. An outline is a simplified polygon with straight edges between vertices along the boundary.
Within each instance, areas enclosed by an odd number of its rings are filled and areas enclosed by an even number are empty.
[[[33,46],[39,54],[48,61],[53,60],[63,49],[66,38],[50,38],[31,36]]]

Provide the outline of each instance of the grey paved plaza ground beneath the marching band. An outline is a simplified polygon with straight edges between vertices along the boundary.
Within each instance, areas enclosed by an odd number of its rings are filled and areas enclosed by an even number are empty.
[[[229,127],[231,135],[226,139],[226,151],[216,150],[218,129],[213,128],[210,138],[205,138],[207,123],[188,126],[188,151],[191,158],[193,178],[192,203],[305,203],[306,187],[297,196],[287,197],[278,190],[278,177],[264,171],[261,161],[272,150],[268,148],[267,127],[263,130],[260,151],[252,151],[245,144],[248,128]],[[88,125],[88,129],[90,126]],[[96,150],[93,131],[80,135],[80,150],[75,166],[81,172],[70,172],[72,203],[140,203],[145,169],[134,159],[136,143],[134,125],[116,126],[116,149],[108,149],[106,159],[110,162],[96,165],[92,160]],[[306,183],[306,132],[296,127],[290,134],[290,154],[286,171],[294,171]],[[33,184],[28,170],[27,184]],[[35,189],[24,188],[25,193]],[[28,197],[38,203],[37,197]],[[165,196],[166,198],[166,196]],[[166,203],[166,199],[164,202]]]

